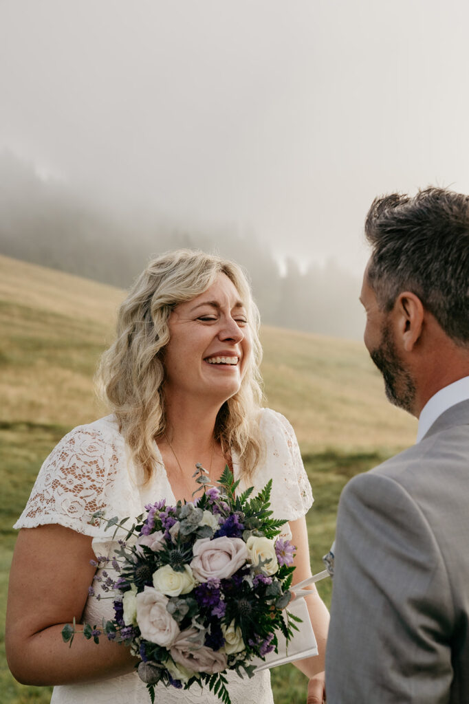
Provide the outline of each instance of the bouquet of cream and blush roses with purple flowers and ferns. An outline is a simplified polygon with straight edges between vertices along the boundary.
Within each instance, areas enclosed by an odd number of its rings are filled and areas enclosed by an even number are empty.
[[[205,684],[230,704],[223,673],[252,677],[252,660],[277,651],[277,634],[288,643],[301,620],[285,609],[294,546],[278,537],[286,521],[269,510],[271,480],[257,496],[253,487],[236,496],[239,482],[228,467],[213,486],[196,466],[204,493],[193,503],[147,505],[130,529],[128,518],[108,520],[114,536],[127,533],[112,560],[118,579],[106,574],[104,587],[115,592],[115,615],[83,628],[96,643],[104,635],[130,646],[152,703],[161,682]],[[98,511],[92,520],[102,517]],[[71,644],[75,632],[75,624],[65,626],[64,641]]]

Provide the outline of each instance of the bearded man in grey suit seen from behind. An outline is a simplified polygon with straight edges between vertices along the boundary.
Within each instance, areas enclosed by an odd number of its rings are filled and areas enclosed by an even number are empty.
[[[329,704],[469,702],[469,196],[376,199],[365,346],[415,446],[339,503]]]

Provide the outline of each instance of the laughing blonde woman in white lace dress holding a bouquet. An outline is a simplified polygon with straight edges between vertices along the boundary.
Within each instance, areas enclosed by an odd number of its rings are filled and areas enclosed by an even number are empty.
[[[113,415],[70,432],[45,460],[23,514],[11,567],[6,648],[23,684],[54,685],[54,704],[149,700],[125,646],[77,636],[63,625],[113,617],[96,556],[116,547],[98,509],[135,517],[144,505],[190,501],[201,463],[212,482],[230,465],[242,491],[273,479],[271,508],[296,546],[294,581],[311,574],[304,515],[313,498],[289,422],[261,408],[258,311],[233,262],[179,250],[151,261],[118,316],[100,375]],[[101,563],[100,563],[101,564]],[[112,570],[108,569],[108,572]],[[112,575],[111,575],[112,576]],[[320,654],[300,660],[308,703],[323,702],[328,613],[315,587],[306,600]],[[233,704],[270,704],[270,673],[228,673]],[[156,702],[218,702],[208,690],[156,686]]]

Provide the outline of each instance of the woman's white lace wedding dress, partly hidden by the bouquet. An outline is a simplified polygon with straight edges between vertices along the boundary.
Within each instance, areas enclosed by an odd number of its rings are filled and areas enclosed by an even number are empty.
[[[280,413],[265,408],[261,430],[267,448],[265,460],[256,468],[251,482],[242,480],[240,490],[251,484],[261,489],[272,478],[271,508],[275,517],[295,520],[305,515],[313,496],[292,426]],[[237,458],[232,459],[235,479],[238,479]],[[175,504],[163,462],[151,482],[139,486],[129,448],[118,431],[115,418],[110,415],[73,429],[59,442],[42,465],[26,508],[14,527],[58,523],[92,536],[96,555],[112,557],[117,546],[109,541],[104,527],[89,525],[92,513],[104,508],[107,517],[136,517],[143,512],[146,503],[163,498]],[[99,590],[95,587],[95,591]],[[91,623],[112,618],[112,600],[97,601],[89,597],[83,617]],[[273,704],[268,670],[252,679],[240,679],[235,672],[228,672],[227,677],[232,704]],[[149,701],[146,686],[137,673],[132,672],[101,682],[56,686],[51,704],[149,704]],[[158,685],[155,701],[156,704],[215,704],[220,700],[208,689],[201,691],[198,686],[180,690]]]

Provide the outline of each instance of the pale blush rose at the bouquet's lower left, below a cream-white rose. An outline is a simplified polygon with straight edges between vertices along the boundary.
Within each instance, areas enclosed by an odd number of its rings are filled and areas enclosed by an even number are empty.
[[[136,601],[137,624],[144,639],[169,648],[180,634],[180,629],[166,610],[168,597],[152,586],[146,586],[144,591],[137,594]]]

